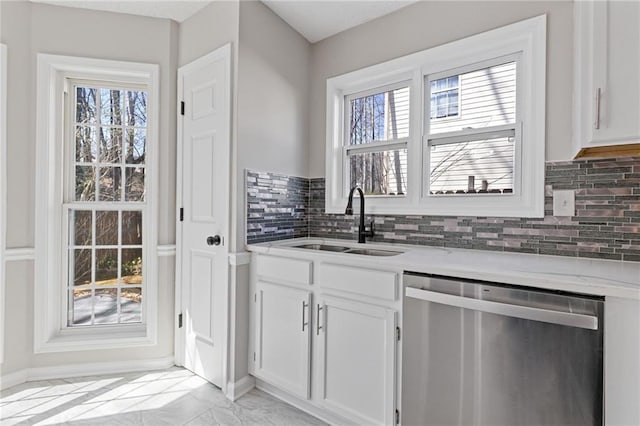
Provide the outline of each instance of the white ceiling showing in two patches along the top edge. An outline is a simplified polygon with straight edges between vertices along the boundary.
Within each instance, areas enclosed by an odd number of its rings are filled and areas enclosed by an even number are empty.
[[[182,22],[208,0],[29,0]],[[220,1],[220,0],[218,0]],[[257,1],[257,0],[241,0]],[[311,43],[391,13],[417,0],[262,0]]]

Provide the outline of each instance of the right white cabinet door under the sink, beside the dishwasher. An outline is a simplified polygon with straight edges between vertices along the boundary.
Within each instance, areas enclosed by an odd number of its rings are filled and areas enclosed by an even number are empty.
[[[394,424],[396,312],[322,295],[316,315],[318,402],[358,424]]]

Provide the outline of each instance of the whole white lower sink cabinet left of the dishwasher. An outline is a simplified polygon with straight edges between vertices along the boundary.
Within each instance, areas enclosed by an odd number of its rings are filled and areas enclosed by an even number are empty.
[[[398,273],[253,256],[249,371],[330,423],[395,425]]]

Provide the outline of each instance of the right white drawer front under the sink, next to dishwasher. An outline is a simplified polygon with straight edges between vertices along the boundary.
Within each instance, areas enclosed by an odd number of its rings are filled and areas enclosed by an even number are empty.
[[[317,280],[322,287],[362,294],[384,300],[396,300],[398,274],[324,263],[318,267]]]

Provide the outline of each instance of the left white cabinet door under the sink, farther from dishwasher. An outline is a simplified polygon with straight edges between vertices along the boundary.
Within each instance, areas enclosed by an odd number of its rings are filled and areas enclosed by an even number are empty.
[[[258,282],[254,374],[301,398],[310,397],[311,293]]]

